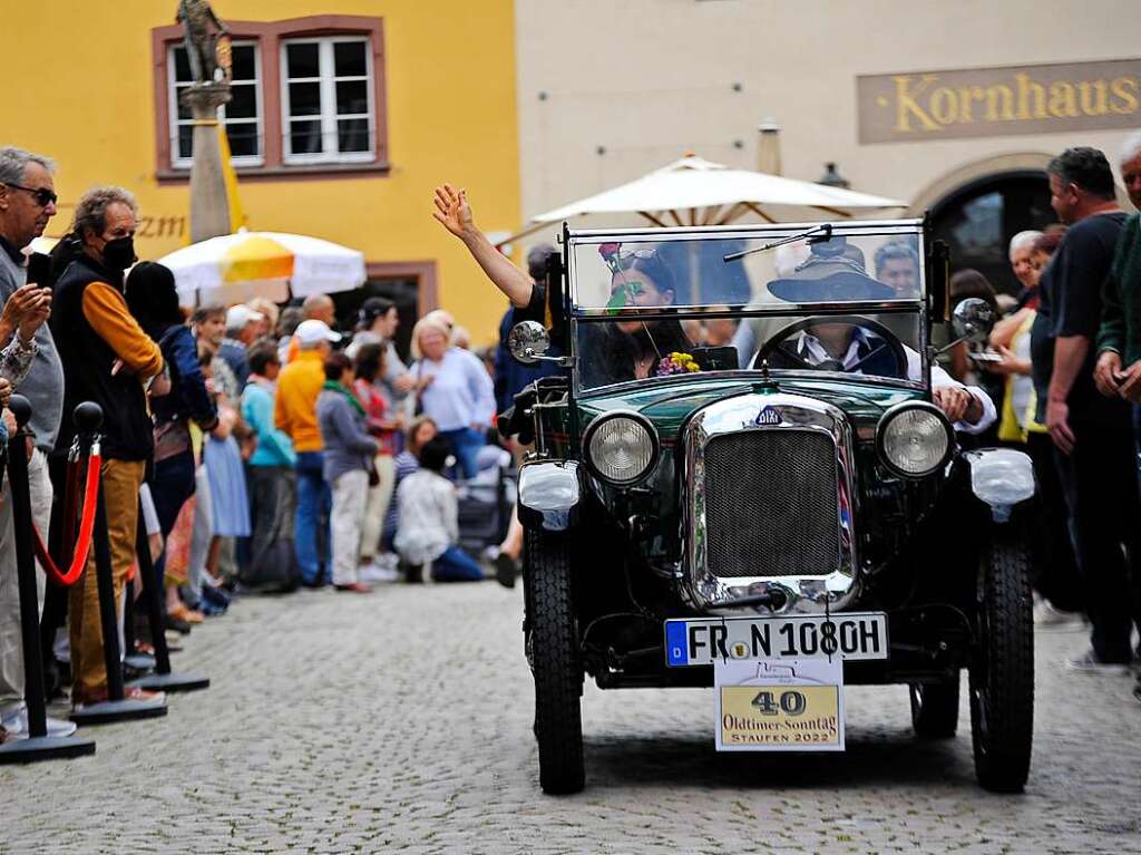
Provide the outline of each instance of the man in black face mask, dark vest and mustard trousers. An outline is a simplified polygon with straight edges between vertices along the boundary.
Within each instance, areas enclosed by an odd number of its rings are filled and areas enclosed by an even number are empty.
[[[56,283],[51,326],[64,364],[64,417],[56,453],[75,436],[72,413],[83,401],[103,408],[103,490],[115,602],[135,558],[138,495],[153,447],[146,385],[163,369],[162,353],[123,298],[123,272],[135,263],[135,196],[120,187],[88,191],[75,207],[74,260]],[[94,552],[94,550],[92,550]],[[68,592],[72,701],[107,697],[94,555]],[[151,696],[138,689],[129,696]]]

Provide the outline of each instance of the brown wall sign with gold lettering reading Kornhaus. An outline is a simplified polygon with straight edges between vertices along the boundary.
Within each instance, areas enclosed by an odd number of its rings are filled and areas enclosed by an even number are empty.
[[[856,78],[859,142],[1141,126],[1141,59]]]

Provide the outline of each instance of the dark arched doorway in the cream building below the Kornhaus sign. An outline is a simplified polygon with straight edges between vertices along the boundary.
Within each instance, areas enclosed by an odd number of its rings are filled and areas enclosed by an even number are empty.
[[[1006,293],[1020,288],[1010,269],[1010,239],[1058,221],[1046,174],[1035,169],[976,178],[936,202],[930,216],[934,236],[950,248],[952,271],[973,267]]]

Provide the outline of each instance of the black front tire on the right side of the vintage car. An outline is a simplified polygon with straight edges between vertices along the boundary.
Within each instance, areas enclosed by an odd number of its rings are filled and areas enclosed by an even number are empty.
[[[1034,619],[1029,551],[1013,533],[984,547],[970,669],[974,774],[993,792],[1021,792],[1034,743]]]

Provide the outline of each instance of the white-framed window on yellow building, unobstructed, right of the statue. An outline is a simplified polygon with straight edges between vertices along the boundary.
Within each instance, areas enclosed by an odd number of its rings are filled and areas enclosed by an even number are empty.
[[[375,111],[367,39],[282,42],[282,130],[286,163],[373,159]]]

